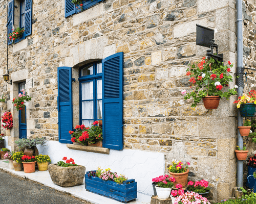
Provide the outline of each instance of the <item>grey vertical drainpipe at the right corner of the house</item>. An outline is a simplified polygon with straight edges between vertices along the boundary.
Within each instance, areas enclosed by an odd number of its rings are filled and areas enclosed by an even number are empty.
[[[243,14],[242,14],[242,1],[237,0],[237,73],[244,73],[243,68]],[[238,85],[238,96],[241,96],[243,91],[243,77],[244,74],[238,74],[239,78],[237,80]],[[238,126],[243,126],[243,118],[240,115],[240,110],[238,109]],[[243,137],[240,135],[238,131],[238,146],[243,148]],[[237,186],[243,187],[243,162],[238,160],[238,178],[237,178]]]

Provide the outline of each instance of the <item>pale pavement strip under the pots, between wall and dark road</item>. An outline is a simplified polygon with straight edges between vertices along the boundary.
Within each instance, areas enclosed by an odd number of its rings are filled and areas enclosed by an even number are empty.
[[[82,200],[89,201],[93,204],[120,204],[123,202],[119,202],[95,193],[91,193],[86,191],[84,187],[84,181],[82,185],[74,186],[74,187],[60,187],[55,185],[50,177],[48,171],[38,171],[35,170],[34,173],[25,173],[24,171],[14,171],[14,169],[9,168],[9,164],[6,163],[6,160],[0,160],[0,169],[7,171],[15,176],[22,177],[24,179],[29,179],[45,186],[51,187],[55,190],[58,190],[63,193],[68,193],[72,196],[80,198]],[[129,204],[150,204],[151,203],[151,196],[145,195],[142,193],[137,192],[137,198],[135,201],[128,202]]]

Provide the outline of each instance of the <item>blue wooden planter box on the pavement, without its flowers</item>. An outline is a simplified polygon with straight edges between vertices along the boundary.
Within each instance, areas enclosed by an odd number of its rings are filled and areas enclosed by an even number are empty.
[[[103,181],[96,176],[88,176],[86,172],[86,190],[103,195],[105,197],[118,200],[120,202],[128,202],[137,198],[137,182],[134,179],[124,181],[118,184],[112,181]]]

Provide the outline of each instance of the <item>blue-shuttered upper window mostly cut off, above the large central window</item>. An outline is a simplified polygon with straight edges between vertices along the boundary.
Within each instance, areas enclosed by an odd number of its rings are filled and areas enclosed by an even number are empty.
[[[103,2],[104,0],[84,0],[82,1],[82,10],[87,10],[93,7],[94,5]],[[80,6],[76,8],[77,5],[72,3],[72,0],[65,0],[65,18],[71,16],[74,13],[81,12]]]

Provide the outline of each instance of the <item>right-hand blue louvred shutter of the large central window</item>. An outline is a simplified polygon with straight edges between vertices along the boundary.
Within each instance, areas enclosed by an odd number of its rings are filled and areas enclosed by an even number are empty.
[[[103,147],[123,149],[123,53],[102,60]]]

